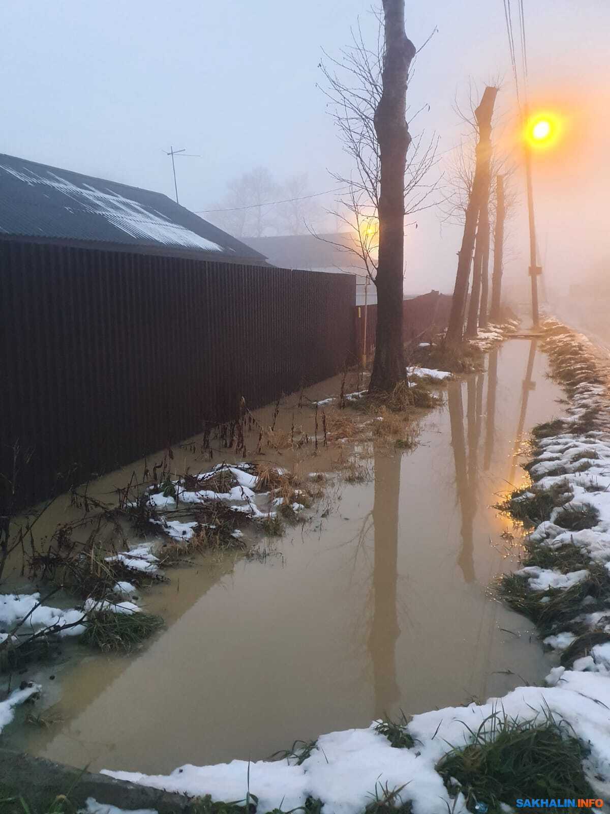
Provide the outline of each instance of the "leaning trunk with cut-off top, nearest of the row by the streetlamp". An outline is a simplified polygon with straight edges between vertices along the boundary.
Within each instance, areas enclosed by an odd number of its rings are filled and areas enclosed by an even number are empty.
[[[468,207],[466,208],[462,246],[458,254],[455,287],[453,290],[453,300],[451,301],[449,326],[447,327],[447,341],[449,342],[460,342],[464,330],[463,315],[466,296],[468,295],[468,277],[470,275],[470,262],[473,257],[474,239],[477,231],[479,209],[481,208],[481,203],[489,198],[491,116],[494,113],[495,97],[497,94],[497,88],[486,87],[481,98],[481,103],[474,112],[475,118],[477,119],[477,127],[479,132],[479,140],[477,143],[477,161],[474,170],[473,188],[470,191]],[[485,190],[487,190],[487,194],[485,193]],[[478,309],[479,295],[474,291],[473,287],[473,294],[475,293],[477,294]]]

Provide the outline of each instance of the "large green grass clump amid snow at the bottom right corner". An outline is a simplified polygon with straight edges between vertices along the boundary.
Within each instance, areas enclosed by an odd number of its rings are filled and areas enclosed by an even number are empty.
[[[515,806],[525,796],[595,797],[582,768],[586,747],[550,710],[525,721],[496,710],[476,732],[464,726],[471,742],[452,749],[437,770],[451,793],[455,793],[454,780],[458,782],[469,811],[476,811],[477,803],[486,803],[490,814],[499,814],[501,803]]]

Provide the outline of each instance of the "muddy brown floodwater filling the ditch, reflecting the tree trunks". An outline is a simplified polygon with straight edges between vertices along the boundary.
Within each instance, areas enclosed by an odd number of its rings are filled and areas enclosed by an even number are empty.
[[[560,392],[529,341],[487,366],[449,383],[412,453],[375,452],[373,481],[343,485],[278,556],[172,571],[144,597],[167,622],[150,646],[68,665],[46,712],[61,720],[7,730],[7,746],[168,772],[540,681],[550,662],[534,632],[490,591],[518,533],[490,507],[525,479],[520,439],[559,412]]]

